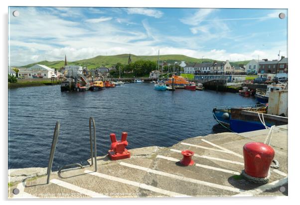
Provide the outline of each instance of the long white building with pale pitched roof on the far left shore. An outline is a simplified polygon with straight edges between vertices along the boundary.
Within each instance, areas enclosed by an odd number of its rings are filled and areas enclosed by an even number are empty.
[[[19,69],[18,77],[24,78],[51,78],[55,73],[53,68],[46,65],[35,64],[26,69]]]

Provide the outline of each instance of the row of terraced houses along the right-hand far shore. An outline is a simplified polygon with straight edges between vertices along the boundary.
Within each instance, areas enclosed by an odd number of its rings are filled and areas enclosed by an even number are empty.
[[[184,73],[190,74],[265,74],[288,73],[288,58],[281,60],[250,60],[246,65],[224,62],[190,63],[184,67]]]

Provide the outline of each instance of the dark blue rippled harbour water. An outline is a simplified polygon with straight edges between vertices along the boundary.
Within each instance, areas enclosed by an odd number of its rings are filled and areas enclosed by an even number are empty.
[[[109,134],[128,132],[128,149],[171,146],[225,132],[214,106],[255,104],[253,98],[216,91],[156,91],[153,84],[125,84],[96,92],[60,92],[60,86],[9,90],[8,168],[47,167],[56,120],[60,133],[53,170],[90,158],[89,117],[96,122],[97,155],[107,154]]]

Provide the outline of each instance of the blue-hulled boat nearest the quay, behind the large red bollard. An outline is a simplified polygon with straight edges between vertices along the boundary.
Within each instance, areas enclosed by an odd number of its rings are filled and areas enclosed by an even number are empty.
[[[286,125],[288,118],[267,114],[267,104],[246,107],[215,107],[214,119],[223,127],[236,133],[262,130],[273,125]]]

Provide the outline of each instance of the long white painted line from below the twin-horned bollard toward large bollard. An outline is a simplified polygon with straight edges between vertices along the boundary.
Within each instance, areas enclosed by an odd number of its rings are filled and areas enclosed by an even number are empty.
[[[191,178],[187,178],[187,177],[183,177],[183,176],[173,175],[173,174],[169,174],[169,173],[166,173],[166,172],[152,170],[152,169],[146,168],[146,167],[141,167],[141,166],[137,166],[137,165],[133,165],[133,164],[128,164],[128,163],[125,163],[125,162],[121,162],[120,165],[130,167],[130,168],[134,168],[134,169],[138,169],[138,170],[143,170],[143,171],[146,171],[148,173],[153,173],[153,174],[156,174],[156,175],[161,175],[161,176],[169,177],[169,178],[176,179],[176,180],[190,182],[190,183],[194,183],[194,184],[198,184],[198,185],[204,185],[204,186],[207,186],[207,187],[213,187],[213,188],[217,188],[217,189],[221,189],[221,190],[227,190],[227,191],[238,192],[238,193],[246,192],[245,190],[241,190],[241,189],[237,189],[237,188],[233,188],[233,187],[228,187],[228,186],[224,186],[224,185],[218,185],[218,184],[214,184],[214,183],[210,183],[210,182],[191,179]]]

